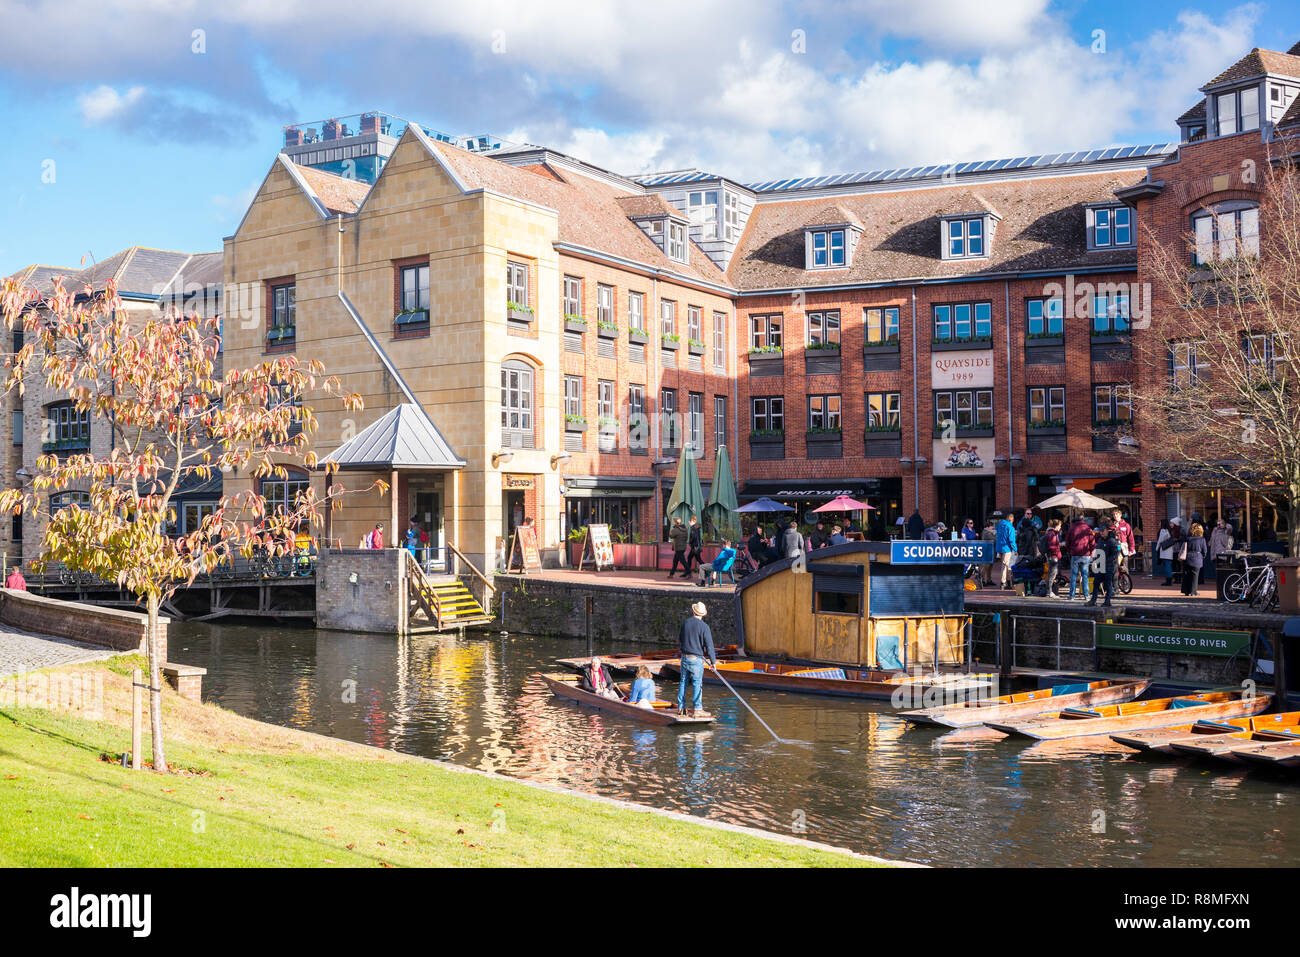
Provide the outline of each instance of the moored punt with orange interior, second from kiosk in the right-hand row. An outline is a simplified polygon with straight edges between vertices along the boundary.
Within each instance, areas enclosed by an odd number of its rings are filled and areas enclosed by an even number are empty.
[[[1222,720],[1244,718],[1268,711],[1271,694],[1252,694],[1245,690],[1200,692],[1173,698],[1128,701],[1097,707],[1067,707],[1061,711],[1009,722],[984,722],[1004,735],[1031,737],[1037,741],[1056,741],[1065,737],[1110,735],[1115,731],[1141,731],[1165,728],[1170,724],[1190,724],[1202,719]]]

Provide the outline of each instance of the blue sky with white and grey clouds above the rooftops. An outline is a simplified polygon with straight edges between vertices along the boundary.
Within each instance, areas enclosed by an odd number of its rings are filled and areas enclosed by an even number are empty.
[[[0,0],[0,274],[220,250],[330,116],[755,182],[1176,140],[1297,40],[1294,0]]]

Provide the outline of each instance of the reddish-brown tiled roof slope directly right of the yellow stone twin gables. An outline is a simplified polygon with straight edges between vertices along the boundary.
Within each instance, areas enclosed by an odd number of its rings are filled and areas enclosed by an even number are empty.
[[[727,283],[727,276],[694,242],[690,243],[689,265],[668,259],[663,250],[628,218],[627,211],[620,204],[620,199],[627,194],[611,183],[573,172],[566,172],[567,182],[552,182],[450,143],[430,140],[430,146],[468,189],[490,189],[554,209],[559,215],[560,242],[705,282]],[[681,216],[680,212],[676,215]]]

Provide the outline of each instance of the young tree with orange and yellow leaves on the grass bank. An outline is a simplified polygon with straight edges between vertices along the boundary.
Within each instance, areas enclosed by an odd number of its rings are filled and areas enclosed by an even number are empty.
[[[152,766],[166,771],[159,607],[237,553],[290,551],[298,529],[321,520],[341,486],[325,495],[308,489],[268,510],[259,480],[285,477],[286,464],[315,467],[308,443],[316,419],[304,395],[334,397],[350,410],[360,408],[360,398],[343,394],[320,363],[303,365],[291,355],[222,372],[220,320],[133,316],[112,283],[95,291],[56,282],[42,296],[5,280],[0,296],[6,326],[23,330],[22,348],[5,363],[5,390],[21,395],[35,384],[44,402],[73,403],[113,438],[107,454],[42,455],[21,488],[0,493],[0,508],[36,514],[52,492],[88,494],[87,506],[48,518],[36,567],[60,562],[116,581],[146,607]],[[177,489],[231,472],[250,478],[250,488],[224,494],[199,528],[169,536]]]

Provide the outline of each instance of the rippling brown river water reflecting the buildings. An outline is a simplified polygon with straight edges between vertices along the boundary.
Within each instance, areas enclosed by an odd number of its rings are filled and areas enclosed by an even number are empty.
[[[707,731],[646,728],[537,680],[585,642],[174,623],[205,701],[259,720],[933,865],[1295,865],[1300,783],[910,728],[888,702],[723,689]],[[597,642],[597,650],[645,648]],[[352,684],[355,683],[355,684]],[[660,681],[660,697],[676,685]]]

